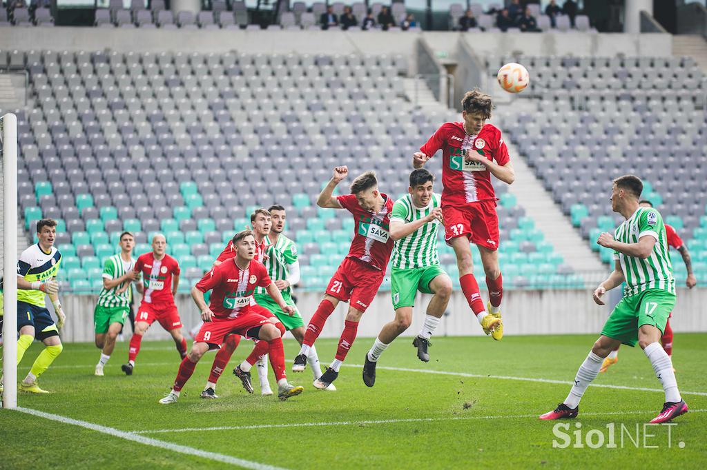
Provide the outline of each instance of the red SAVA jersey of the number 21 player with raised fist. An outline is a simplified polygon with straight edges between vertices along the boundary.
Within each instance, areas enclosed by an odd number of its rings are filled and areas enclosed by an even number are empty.
[[[395,243],[389,233],[393,201],[383,193],[380,195],[384,202],[377,214],[363,210],[354,194],[337,196],[337,200],[341,207],[354,215],[354,240],[351,241],[346,258],[356,258],[377,270],[385,271]]]

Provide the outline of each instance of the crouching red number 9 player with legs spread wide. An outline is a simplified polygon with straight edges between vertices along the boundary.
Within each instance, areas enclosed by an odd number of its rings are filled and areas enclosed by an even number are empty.
[[[254,260],[256,244],[250,230],[243,230],[233,237],[235,257],[214,267],[192,287],[192,298],[201,311],[201,325],[189,354],[182,360],[175,384],[170,393],[160,399],[161,404],[177,402],[180,391],[194,373],[197,362],[209,349],[221,347],[226,335],[241,335],[257,338],[268,344],[270,363],[277,378],[278,396],[287,399],[303,392],[287,382],[285,375],[285,351],[282,334],[262,313],[267,310],[253,299],[256,287],[267,289],[268,294],[287,313],[293,313],[280,290],[270,280],[267,269]],[[204,301],[204,292],[211,290],[211,303]]]

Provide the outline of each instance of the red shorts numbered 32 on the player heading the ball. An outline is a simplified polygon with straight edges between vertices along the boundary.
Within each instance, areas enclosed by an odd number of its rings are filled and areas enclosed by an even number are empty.
[[[495,200],[480,200],[464,207],[442,206],[447,243],[466,236],[474,245],[498,250],[498,215]]]

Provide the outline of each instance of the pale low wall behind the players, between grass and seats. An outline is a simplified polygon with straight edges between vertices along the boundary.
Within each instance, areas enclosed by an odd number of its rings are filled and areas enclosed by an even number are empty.
[[[96,296],[62,296],[66,311],[66,326],[62,337],[66,342],[93,341],[93,308]],[[308,321],[322,294],[298,294],[298,308]],[[425,308],[430,296],[418,295],[412,326],[406,336],[415,335],[422,327]],[[679,289],[672,320],[676,332],[707,331],[707,289]],[[348,304],[341,303],[322,332],[322,337],[339,337],[344,329],[344,315]],[[50,304],[49,307],[51,308]],[[187,330],[199,322],[197,308],[186,294],[177,298],[177,308]],[[452,294],[450,315],[443,318],[437,335],[481,335],[481,327],[472,316],[460,292]],[[551,335],[600,332],[609,315],[608,307],[597,306],[589,290],[567,291],[508,291],[503,299],[504,332],[506,335]],[[359,337],[375,337],[380,328],[393,318],[390,293],[379,294],[363,316],[358,328]],[[129,332],[127,327],[126,332]],[[168,339],[158,324],[153,325],[146,339]]]

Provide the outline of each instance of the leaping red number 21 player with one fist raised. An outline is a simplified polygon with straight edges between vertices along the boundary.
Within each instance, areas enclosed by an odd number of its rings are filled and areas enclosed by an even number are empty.
[[[339,265],[329,281],[324,300],[312,315],[302,342],[300,353],[292,366],[294,372],[302,372],[307,366],[307,356],[317,340],[324,324],[337,307],[339,301],[349,302],[349,313],[344,321],[344,332],[334,361],[314,386],[324,390],[339,376],[339,368],[356,339],[358,322],[383,282],[385,267],[390,259],[393,239],[388,233],[393,200],[378,191],[378,181],[373,171],[366,171],[351,183],[351,194],[334,197],[334,188],[349,174],[347,167],[334,168],[334,176],[317,199],[319,207],[346,209],[354,215],[354,240],[349,255]]]

